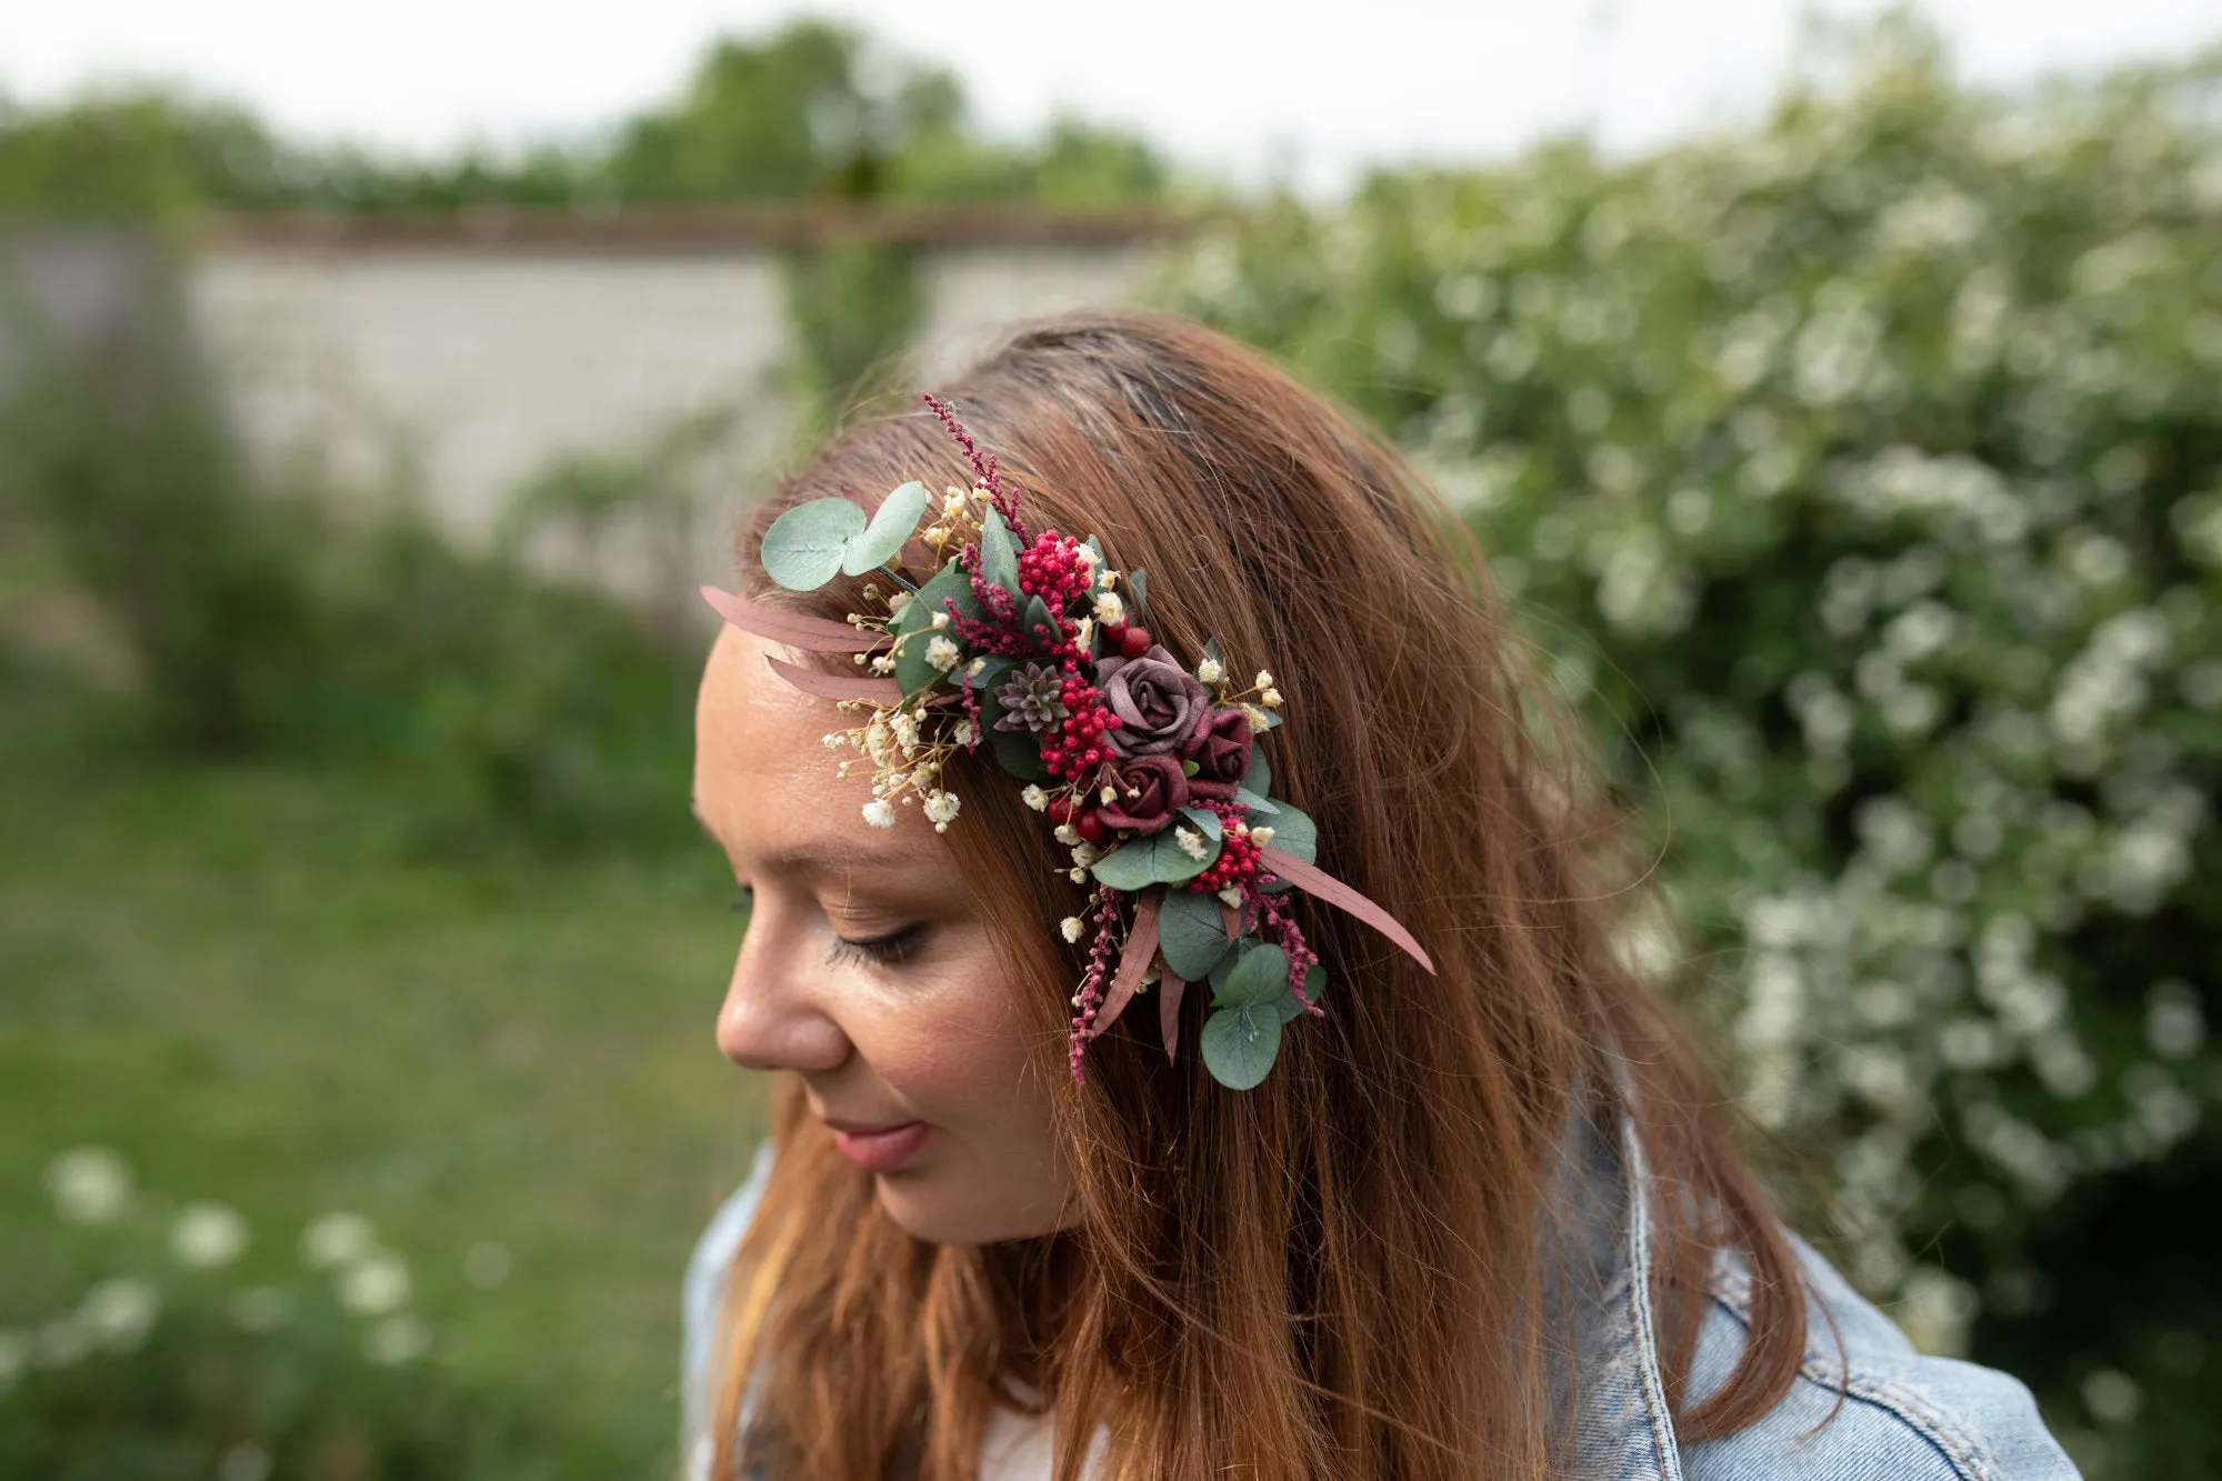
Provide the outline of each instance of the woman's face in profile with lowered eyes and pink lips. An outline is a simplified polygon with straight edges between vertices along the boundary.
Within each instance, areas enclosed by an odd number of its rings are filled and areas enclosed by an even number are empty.
[[[1049,1134],[1062,1043],[1024,1027],[987,907],[933,825],[918,807],[864,823],[869,763],[842,778],[855,752],[822,740],[847,716],[782,683],[767,654],[795,658],[720,629],[695,700],[695,812],[753,896],[718,1047],[793,1070],[918,1239],[1047,1234],[1071,1187]]]

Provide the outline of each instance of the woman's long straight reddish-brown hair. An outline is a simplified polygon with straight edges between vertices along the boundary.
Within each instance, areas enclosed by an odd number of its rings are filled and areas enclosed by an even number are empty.
[[[1215,1085],[1193,1050],[1169,1063],[1144,1001],[1060,1092],[1078,1192],[1069,1227],[1038,1241],[911,1239],[782,1085],[775,1167],[727,1279],[720,1481],[744,1452],[773,1474],[969,1479],[1013,1379],[1055,1419],[1060,1481],[1098,1423],[1111,1477],[1551,1474],[1573,1363],[1553,1252],[1582,1232],[1540,1232],[1569,1125],[1591,1114],[1631,1116],[1651,1165],[1680,1434],[1769,1410],[1804,1343],[1791,1250],[1724,1092],[1615,950],[1655,905],[1647,861],[1458,520],[1327,400],[1180,320],[1038,325],[947,398],[1035,527],[1100,534],[1113,567],[1147,567],[1151,632],[1175,654],[1215,636],[1231,667],[1273,669],[1275,792],[1318,821],[1320,865],[1409,925],[1438,974],[1311,910],[1327,1016],[1291,1025],[1251,1092]],[[855,609],[853,587],[771,589],[758,538],[793,503],[907,478],[971,478],[924,407],[842,431],[744,529],[751,594]],[[1080,887],[1011,778],[953,785],[953,863],[1009,903],[995,945],[1058,1063],[1078,963],[1055,923]],[[1751,1263],[1751,1336],[1686,1405],[1722,1245]]]

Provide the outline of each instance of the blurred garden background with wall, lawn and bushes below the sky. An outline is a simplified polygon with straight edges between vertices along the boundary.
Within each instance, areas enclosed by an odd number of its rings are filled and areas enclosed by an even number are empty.
[[[1853,1279],[2089,1474],[2222,1472],[2222,49],[1978,85],[1895,13],[1333,189],[980,87],[800,20],[516,149],[0,111],[0,1474],[669,1474],[762,1125],[682,594],[1102,300],[1473,520]]]

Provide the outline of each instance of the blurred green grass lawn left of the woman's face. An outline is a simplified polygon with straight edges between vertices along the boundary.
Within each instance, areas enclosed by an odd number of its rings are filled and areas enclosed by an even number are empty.
[[[40,1170],[78,1143],[242,1210],[240,1279],[362,1212],[458,1368],[669,1474],[680,1265],[762,1127],[711,1043],[722,861],[440,861],[407,778],[24,749],[0,740],[0,1250],[53,1239]],[[493,1290],[464,1279],[482,1241]]]

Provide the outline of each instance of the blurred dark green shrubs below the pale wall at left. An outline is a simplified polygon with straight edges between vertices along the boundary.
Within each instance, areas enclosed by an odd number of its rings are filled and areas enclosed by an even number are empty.
[[[80,345],[18,314],[0,394],[0,518],[120,638],[131,736],[402,769],[438,841],[687,836],[682,634],[402,498],[253,467],[173,287],[158,271],[131,327]]]

